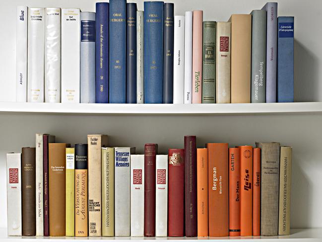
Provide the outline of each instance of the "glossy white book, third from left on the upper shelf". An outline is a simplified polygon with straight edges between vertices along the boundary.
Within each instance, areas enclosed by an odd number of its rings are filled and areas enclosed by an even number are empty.
[[[45,16],[45,102],[61,102],[61,8]]]

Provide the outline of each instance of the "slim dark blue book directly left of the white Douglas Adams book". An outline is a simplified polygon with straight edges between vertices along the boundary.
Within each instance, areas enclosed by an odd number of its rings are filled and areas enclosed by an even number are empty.
[[[173,103],[174,4],[164,3],[163,102]]]

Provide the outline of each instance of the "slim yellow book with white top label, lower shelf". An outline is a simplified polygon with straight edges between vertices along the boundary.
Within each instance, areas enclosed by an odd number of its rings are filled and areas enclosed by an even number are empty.
[[[75,148],[66,148],[66,236],[75,236]]]

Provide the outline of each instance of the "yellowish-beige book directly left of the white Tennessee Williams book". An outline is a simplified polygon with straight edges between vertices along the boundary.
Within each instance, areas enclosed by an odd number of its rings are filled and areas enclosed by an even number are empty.
[[[114,148],[102,148],[102,236],[114,236]]]

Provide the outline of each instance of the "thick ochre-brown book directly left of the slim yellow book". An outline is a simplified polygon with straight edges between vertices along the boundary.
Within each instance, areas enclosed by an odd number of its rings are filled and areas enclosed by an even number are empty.
[[[49,144],[49,236],[65,236],[65,143]]]

